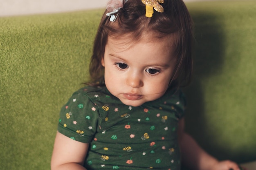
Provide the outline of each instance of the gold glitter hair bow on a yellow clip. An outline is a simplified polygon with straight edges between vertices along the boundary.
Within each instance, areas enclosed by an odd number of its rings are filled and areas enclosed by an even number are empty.
[[[146,5],[146,17],[151,18],[153,16],[154,10],[157,12],[164,12],[164,7],[159,3],[164,3],[164,0],[141,0],[142,3]]]

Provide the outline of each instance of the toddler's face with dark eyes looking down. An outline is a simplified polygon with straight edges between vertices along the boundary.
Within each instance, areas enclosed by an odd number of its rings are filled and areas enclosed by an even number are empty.
[[[176,64],[165,40],[139,42],[108,38],[102,65],[106,87],[128,106],[140,106],[162,97]]]

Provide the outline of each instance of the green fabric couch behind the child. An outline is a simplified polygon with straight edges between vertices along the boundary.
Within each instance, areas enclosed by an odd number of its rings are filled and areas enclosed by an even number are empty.
[[[256,1],[186,3],[195,22],[186,131],[256,160]],[[88,77],[103,9],[0,18],[0,169],[49,170],[58,113]]]

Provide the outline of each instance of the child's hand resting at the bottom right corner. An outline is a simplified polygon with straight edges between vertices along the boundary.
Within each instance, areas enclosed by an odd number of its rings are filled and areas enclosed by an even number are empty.
[[[238,164],[232,161],[219,161],[214,164],[211,170],[246,170],[245,168],[240,169]]]

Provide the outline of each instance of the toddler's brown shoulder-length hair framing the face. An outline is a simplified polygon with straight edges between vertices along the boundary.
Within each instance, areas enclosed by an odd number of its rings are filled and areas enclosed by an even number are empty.
[[[104,57],[108,36],[118,38],[129,33],[131,40],[137,41],[144,31],[150,32],[153,38],[168,38],[177,63],[171,87],[180,87],[190,82],[192,74],[192,41],[193,24],[189,12],[182,0],[165,0],[164,12],[154,11],[152,18],[145,16],[145,5],[141,0],[128,0],[119,10],[117,20],[111,22],[105,11],[94,41],[90,62],[91,82],[103,82],[104,68],[101,60]]]

